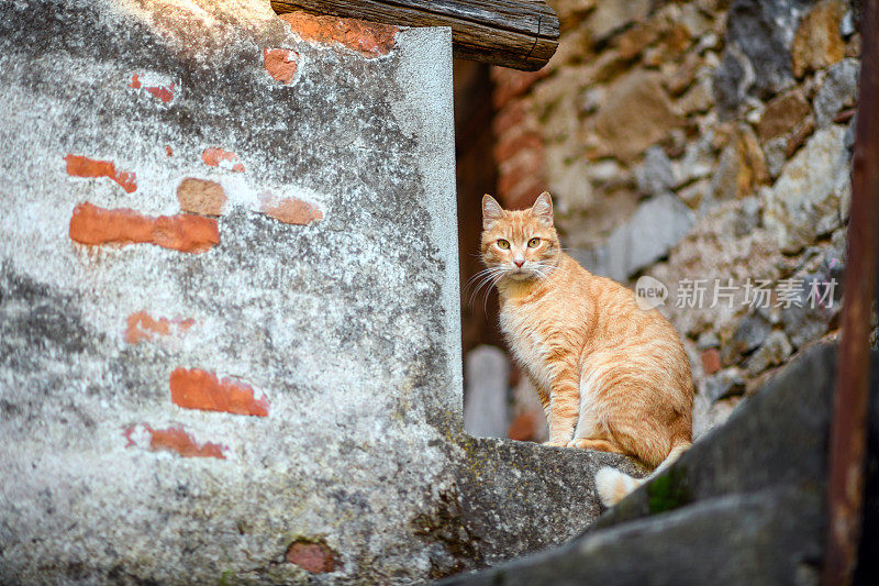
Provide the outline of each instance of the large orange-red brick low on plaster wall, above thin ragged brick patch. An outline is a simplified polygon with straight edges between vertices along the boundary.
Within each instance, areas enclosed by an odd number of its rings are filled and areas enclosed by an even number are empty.
[[[171,401],[178,407],[203,411],[224,411],[242,416],[268,416],[265,395],[257,399],[252,386],[200,368],[177,368],[169,379]]]

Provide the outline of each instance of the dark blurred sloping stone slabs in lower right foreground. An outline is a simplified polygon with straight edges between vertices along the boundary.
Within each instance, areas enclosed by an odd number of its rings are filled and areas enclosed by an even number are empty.
[[[813,346],[572,542],[442,584],[817,579],[835,372]]]

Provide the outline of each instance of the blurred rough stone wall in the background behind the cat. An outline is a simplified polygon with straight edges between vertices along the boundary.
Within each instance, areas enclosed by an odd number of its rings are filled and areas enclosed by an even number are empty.
[[[857,13],[843,0],[549,3],[563,35],[547,67],[493,71],[498,192],[525,207],[548,188],[587,268],[667,287],[701,433],[835,328]]]

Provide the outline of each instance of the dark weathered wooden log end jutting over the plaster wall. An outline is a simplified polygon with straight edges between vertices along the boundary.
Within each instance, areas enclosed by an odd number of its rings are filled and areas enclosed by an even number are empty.
[[[558,46],[558,18],[542,0],[271,0],[304,10],[399,26],[450,26],[455,57],[533,71]]]

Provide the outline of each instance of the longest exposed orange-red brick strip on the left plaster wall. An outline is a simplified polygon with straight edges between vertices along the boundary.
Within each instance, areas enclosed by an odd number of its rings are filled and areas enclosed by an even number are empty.
[[[74,209],[69,234],[80,244],[146,243],[189,253],[201,253],[220,243],[216,220],[212,218],[151,218],[134,210],[105,210],[88,202]]]

